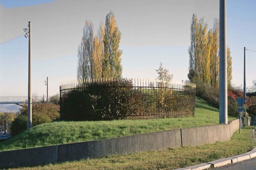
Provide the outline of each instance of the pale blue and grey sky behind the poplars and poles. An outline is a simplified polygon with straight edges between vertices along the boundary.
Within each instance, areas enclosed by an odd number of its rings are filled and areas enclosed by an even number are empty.
[[[227,42],[233,58],[235,86],[243,82],[243,47],[256,50],[254,0],[227,0]],[[219,0],[0,0],[0,96],[27,95],[28,39],[23,28],[32,22],[32,92],[57,94],[61,82],[75,80],[77,47],[85,20],[100,22],[113,11],[122,36],[123,77],[155,78],[159,63],[186,80],[190,20],[193,13],[208,27],[219,18]],[[8,41],[12,38],[14,40]],[[5,44],[5,41],[8,41]],[[247,86],[256,79],[256,53],[246,52]]]

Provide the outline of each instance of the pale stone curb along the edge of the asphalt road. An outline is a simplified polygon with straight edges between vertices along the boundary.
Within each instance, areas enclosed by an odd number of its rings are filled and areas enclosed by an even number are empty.
[[[256,137],[254,135],[255,131],[256,131],[256,128],[252,130],[251,136],[252,136],[252,140],[256,142]],[[244,161],[244,160],[251,159],[254,157],[256,157],[256,147],[254,147],[251,151],[246,152],[244,154],[231,156],[228,158],[221,158],[221,159],[217,159],[214,161],[201,163],[201,164],[194,165],[194,166],[178,168],[178,169],[174,169],[174,170],[203,170],[203,169],[208,169],[210,167],[220,167],[220,166],[224,166],[227,164]]]

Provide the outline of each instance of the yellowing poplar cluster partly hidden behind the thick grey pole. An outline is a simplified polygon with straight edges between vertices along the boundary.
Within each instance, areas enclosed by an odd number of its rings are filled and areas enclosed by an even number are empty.
[[[219,20],[215,19],[213,28],[209,29],[204,19],[194,14],[190,26],[189,72],[190,81],[210,84],[216,88],[219,84]],[[232,57],[228,57],[228,86],[232,80]]]

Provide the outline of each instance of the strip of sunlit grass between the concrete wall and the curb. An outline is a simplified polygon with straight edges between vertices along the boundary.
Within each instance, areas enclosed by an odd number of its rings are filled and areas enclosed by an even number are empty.
[[[182,147],[162,151],[147,151],[125,155],[112,155],[99,159],[49,164],[45,166],[23,167],[15,169],[49,170],[49,169],[174,169],[186,167],[223,157],[245,153],[251,150],[255,143],[250,133],[252,126],[242,129],[241,135],[234,133],[230,141],[216,142],[195,147]]]

